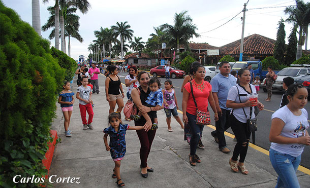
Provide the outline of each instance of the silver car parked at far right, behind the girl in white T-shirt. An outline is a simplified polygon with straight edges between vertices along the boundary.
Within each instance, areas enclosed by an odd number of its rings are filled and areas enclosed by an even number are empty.
[[[296,77],[300,75],[307,74],[307,72],[310,72],[310,67],[287,67],[282,70],[280,70],[276,75],[277,79],[272,85],[273,90],[283,91],[283,79],[286,77]],[[264,85],[265,80],[261,83],[261,87],[265,92],[267,92],[266,85]]]

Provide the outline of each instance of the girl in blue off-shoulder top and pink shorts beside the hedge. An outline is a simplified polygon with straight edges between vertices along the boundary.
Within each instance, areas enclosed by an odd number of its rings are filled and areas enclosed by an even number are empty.
[[[65,136],[71,137],[72,131],[69,130],[70,118],[73,110],[74,93],[70,90],[70,82],[65,81],[63,85],[64,90],[59,93],[58,103],[60,104],[61,110],[65,117]]]

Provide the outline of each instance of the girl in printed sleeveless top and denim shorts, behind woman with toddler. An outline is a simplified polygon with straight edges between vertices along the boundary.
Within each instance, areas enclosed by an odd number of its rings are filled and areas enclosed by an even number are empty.
[[[183,123],[178,115],[177,109],[179,106],[177,105],[177,100],[175,97],[175,91],[172,86],[172,82],[170,80],[165,81],[165,89],[162,90],[164,94],[164,110],[166,112],[166,122],[168,125],[168,131],[172,132],[170,123],[171,123],[171,113],[175,120],[180,124],[181,128],[184,129]]]

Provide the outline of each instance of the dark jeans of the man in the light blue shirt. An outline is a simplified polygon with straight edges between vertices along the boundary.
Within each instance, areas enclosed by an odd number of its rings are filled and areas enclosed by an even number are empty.
[[[215,122],[216,131],[212,131],[211,134],[214,137],[219,138],[219,148],[223,149],[226,147],[226,140],[224,132],[230,127],[229,114],[230,110],[222,109],[222,116],[219,116],[219,121]]]

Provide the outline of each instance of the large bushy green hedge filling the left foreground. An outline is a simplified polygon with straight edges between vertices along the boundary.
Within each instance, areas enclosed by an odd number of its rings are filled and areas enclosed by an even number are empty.
[[[34,187],[12,179],[47,173],[42,159],[65,69],[49,42],[1,1],[0,33],[0,187]]]

